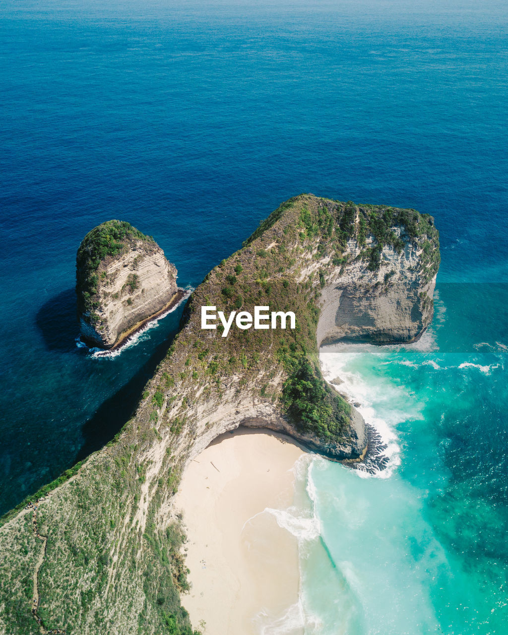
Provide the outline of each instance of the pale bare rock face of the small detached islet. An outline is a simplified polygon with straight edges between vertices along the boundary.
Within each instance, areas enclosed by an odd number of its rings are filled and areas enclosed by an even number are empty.
[[[84,338],[109,349],[139,323],[161,311],[177,293],[177,269],[156,243],[135,241],[127,253],[98,268],[95,319],[80,318]]]

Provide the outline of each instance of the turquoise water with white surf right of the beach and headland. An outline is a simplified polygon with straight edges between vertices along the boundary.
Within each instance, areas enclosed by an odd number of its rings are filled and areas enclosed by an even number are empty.
[[[508,333],[483,302],[503,314],[507,291],[445,284],[417,344],[321,350],[390,462],[374,475],[311,464],[319,540],[303,545],[303,599],[324,626],[308,632],[506,632]]]

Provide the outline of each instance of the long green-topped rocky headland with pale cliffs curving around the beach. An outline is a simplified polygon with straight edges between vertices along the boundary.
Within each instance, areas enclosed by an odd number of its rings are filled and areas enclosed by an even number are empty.
[[[34,495],[51,491],[35,511],[25,501],[4,517],[0,633],[192,635],[172,500],[185,465],[239,425],[362,460],[366,427],[324,382],[319,345],[417,339],[432,318],[438,267],[429,215],[310,194],[281,204],[192,293],[117,437]],[[220,326],[201,329],[204,305],[225,313],[269,305],[295,312],[297,324],[223,338]]]

